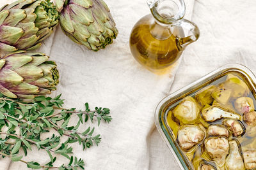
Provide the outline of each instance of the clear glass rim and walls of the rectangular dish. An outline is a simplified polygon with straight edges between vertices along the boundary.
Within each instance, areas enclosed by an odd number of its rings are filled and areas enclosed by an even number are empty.
[[[173,134],[172,129],[168,125],[167,116],[168,110],[172,110],[179,104],[181,99],[186,96],[195,96],[196,92],[200,89],[203,89],[207,85],[210,85],[214,82],[220,83],[221,78],[223,79],[224,76],[227,74],[232,73],[236,74],[237,76],[243,78],[243,81],[248,85],[251,96],[255,101],[255,82],[256,78],[255,75],[245,66],[241,64],[227,64],[222,66],[209,74],[206,74],[199,80],[190,83],[186,87],[183,87],[173,94],[164,97],[162,101],[157,105],[156,113],[155,113],[155,123],[157,130],[161,134],[162,138],[164,139],[166,145],[170,148],[173,157],[179,164],[181,169],[194,169],[192,162],[188,159],[187,155],[180,149],[179,144],[176,141],[176,136]]]

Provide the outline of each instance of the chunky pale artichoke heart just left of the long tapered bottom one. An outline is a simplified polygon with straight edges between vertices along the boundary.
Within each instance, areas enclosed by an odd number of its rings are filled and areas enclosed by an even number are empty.
[[[225,164],[228,155],[229,144],[227,138],[211,137],[204,141],[205,150],[217,166],[221,167]]]

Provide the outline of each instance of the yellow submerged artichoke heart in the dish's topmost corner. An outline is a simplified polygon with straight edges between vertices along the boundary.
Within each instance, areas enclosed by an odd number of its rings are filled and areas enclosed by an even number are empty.
[[[238,78],[237,76],[233,74],[227,75],[227,80],[225,82],[225,88],[232,90],[232,97],[242,97],[242,96],[248,96],[250,90],[246,83],[244,83],[243,80]]]

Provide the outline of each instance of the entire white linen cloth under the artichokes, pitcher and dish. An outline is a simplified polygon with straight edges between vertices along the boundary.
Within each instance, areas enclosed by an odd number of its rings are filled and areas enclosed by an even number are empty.
[[[2,0],[0,5],[10,2]],[[154,110],[168,94],[177,66],[170,74],[157,76],[132,58],[129,34],[133,25],[149,13],[145,1],[106,3],[119,31],[113,45],[92,52],[73,43],[58,28],[37,50],[47,53],[58,64],[61,78],[54,94],[63,94],[65,107],[83,108],[83,103],[88,102],[92,108],[111,109],[113,121],[101,124],[95,131],[102,134],[100,145],[84,152],[81,146],[72,145],[74,155],[84,159],[86,169],[179,169],[154,126]],[[186,18],[193,11],[192,20],[200,28],[201,37],[184,52],[172,92],[227,63],[239,62],[256,71],[255,3],[199,0],[193,10],[194,1],[186,1]],[[87,126],[81,125],[84,129]],[[47,153],[35,152],[35,147],[33,150],[25,160],[49,161]],[[61,156],[58,159],[57,163],[67,162]],[[0,169],[27,169],[20,162],[0,161]]]

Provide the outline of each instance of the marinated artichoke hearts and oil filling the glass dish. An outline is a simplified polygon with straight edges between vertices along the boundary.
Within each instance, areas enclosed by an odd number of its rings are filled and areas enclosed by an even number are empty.
[[[166,110],[173,142],[194,169],[256,169],[256,100],[244,80],[224,74]]]

